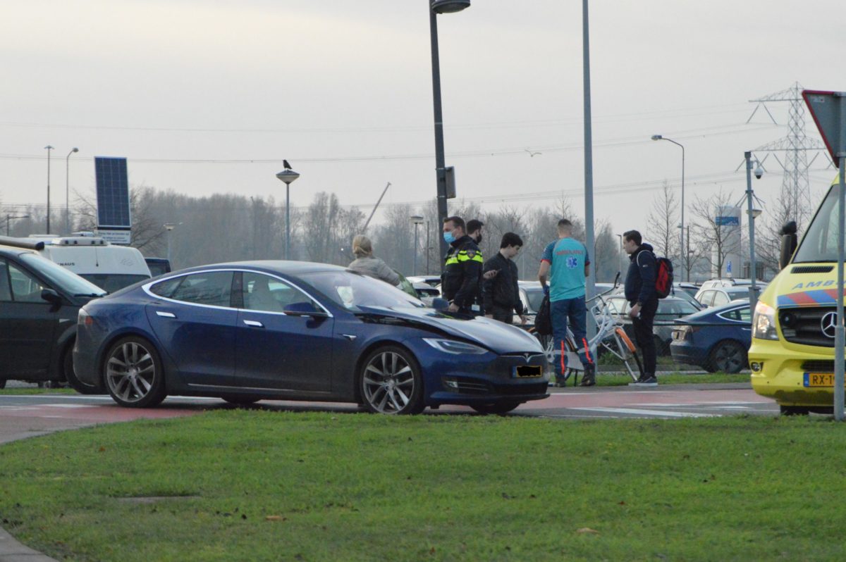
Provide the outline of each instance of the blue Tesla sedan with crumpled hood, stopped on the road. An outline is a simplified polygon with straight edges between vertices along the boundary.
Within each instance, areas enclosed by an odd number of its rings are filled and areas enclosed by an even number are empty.
[[[548,396],[546,365],[524,330],[290,261],[205,265],[129,286],[80,309],[74,347],[77,377],[130,407],[178,395],[504,413]]]

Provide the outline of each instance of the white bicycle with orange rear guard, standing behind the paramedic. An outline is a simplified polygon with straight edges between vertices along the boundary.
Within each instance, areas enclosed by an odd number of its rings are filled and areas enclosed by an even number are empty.
[[[619,274],[617,274],[619,279]],[[629,374],[632,380],[640,379],[643,374],[643,365],[640,363],[640,357],[637,354],[637,348],[632,343],[623,325],[612,314],[610,304],[606,301],[605,296],[609,292],[613,292],[617,288],[617,281],[614,281],[614,286],[606,292],[602,292],[591,298],[591,314],[596,321],[596,336],[593,336],[588,341],[588,349],[594,362],[598,358],[598,352],[611,353],[613,357],[617,357],[623,362],[625,372]],[[589,301],[590,302],[590,301]],[[536,335],[537,336],[537,335]],[[541,341],[541,346],[547,354],[547,361],[550,366],[554,366],[554,361],[561,361],[561,350],[555,349],[555,338],[550,336],[537,336]],[[566,384],[570,376],[573,375],[573,385],[579,382],[579,373],[585,368],[579,358],[578,350],[581,346],[576,345],[572,330],[567,328],[567,340],[564,341],[564,364],[566,370],[563,374],[562,382]]]

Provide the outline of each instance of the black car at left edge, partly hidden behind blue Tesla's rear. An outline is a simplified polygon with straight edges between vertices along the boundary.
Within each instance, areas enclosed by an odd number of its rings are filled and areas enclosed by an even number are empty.
[[[75,389],[71,350],[80,307],[106,294],[49,259],[0,249],[0,388],[6,380],[65,381]]]

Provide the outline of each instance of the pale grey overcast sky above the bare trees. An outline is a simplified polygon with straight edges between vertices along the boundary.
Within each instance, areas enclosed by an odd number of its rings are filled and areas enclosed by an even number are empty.
[[[591,3],[596,219],[646,228],[652,198],[722,186],[739,199],[744,150],[787,130],[799,82],[846,90],[835,0]],[[0,210],[92,193],[93,156],[126,156],[131,185],[275,195],[317,191],[369,211],[435,194],[428,2],[424,0],[28,0],[0,19]],[[483,205],[584,209],[578,0],[473,0],[438,18],[447,164]],[[817,137],[808,118],[807,133]],[[528,150],[528,151],[527,151]],[[530,156],[529,151],[540,152]],[[813,156],[813,155],[811,155]],[[811,174],[815,201],[833,171]],[[755,193],[773,205],[782,171]]]

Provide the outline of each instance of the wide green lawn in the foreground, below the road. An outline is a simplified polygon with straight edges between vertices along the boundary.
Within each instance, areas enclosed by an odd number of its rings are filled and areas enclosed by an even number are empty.
[[[0,517],[74,560],[831,560],[844,447],[820,418],[228,410],[4,445]]]

